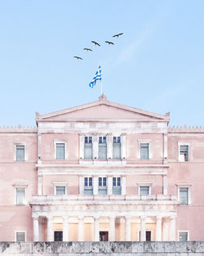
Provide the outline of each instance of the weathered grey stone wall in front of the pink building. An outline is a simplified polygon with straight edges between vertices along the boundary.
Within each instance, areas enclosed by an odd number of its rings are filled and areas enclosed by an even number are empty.
[[[202,242],[0,242],[4,256],[203,256]]]

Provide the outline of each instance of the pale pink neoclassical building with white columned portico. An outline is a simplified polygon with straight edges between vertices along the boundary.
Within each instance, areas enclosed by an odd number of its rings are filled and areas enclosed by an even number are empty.
[[[0,240],[204,240],[204,128],[98,101],[0,128]]]

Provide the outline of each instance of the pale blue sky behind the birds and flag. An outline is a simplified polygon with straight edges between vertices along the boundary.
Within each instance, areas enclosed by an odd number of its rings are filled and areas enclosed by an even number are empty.
[[[0,124],[97,100],[101,65],[110,101],[204,125],[203,13],[202,0],[1,1]]]

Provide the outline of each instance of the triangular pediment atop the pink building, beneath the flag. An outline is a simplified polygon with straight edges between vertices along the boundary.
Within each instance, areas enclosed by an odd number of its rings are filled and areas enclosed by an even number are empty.
[[[86,105],[56,111],[47,115],[37,115],[36,119],[37,121],[66,121],[69,119],[162,119],[168,121],[169,116],[124,106],[113,101],[108,101],[106,97],[100,97],[99,101],[94,101]]]

